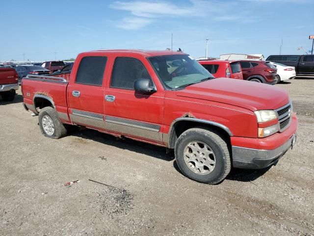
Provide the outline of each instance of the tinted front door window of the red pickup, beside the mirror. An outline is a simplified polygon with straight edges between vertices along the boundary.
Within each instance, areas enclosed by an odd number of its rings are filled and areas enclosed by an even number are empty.
[[[150,79],[143,63],[135,58],[116,58],[114,61],[110,87],[134,89],[137,79]]]

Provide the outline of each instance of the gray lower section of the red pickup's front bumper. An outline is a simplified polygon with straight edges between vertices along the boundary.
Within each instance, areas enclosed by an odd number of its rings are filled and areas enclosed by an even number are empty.
[[[241,148],[232,146],[233,167],[242,169],[263,169],[276,163],[296,142],[296,134],[282,146],[272,150]]]

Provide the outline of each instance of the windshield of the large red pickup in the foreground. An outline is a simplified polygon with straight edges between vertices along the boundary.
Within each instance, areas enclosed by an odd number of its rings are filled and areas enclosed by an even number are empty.
[[[148,58],[167,89],[200,83],[213,76],[188,55],[166,55]]]

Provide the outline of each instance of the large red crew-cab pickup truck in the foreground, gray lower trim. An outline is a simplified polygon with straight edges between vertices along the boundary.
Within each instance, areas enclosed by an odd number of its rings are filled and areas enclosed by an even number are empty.
[[[46,137],[78,125],[174,149],[182,173],[209,184],[232,167],[277,163],[295,143],[297,118],[285,89],[215,79],[180,52],[81,53],[69,80],[28,75],[22,92]]]

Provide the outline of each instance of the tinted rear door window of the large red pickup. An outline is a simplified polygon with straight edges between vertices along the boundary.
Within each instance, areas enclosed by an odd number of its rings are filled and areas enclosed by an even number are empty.
[[[78,66],[75,83],[102,86],[105,73],[106,57],[85,57]]]

